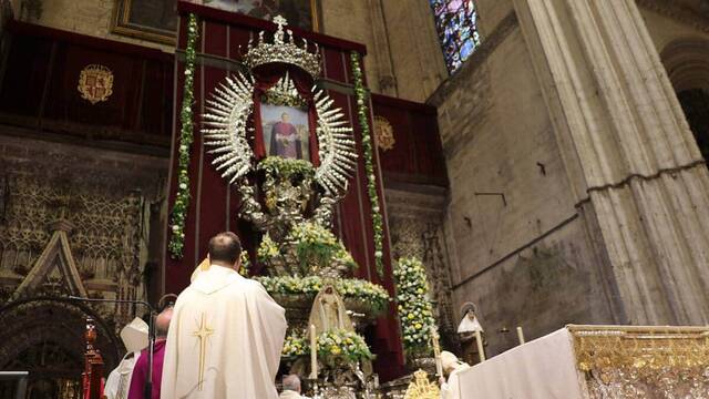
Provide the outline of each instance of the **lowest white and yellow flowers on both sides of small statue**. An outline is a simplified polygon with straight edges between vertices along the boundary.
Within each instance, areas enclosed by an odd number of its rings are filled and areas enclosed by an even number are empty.
[[[286,337],[281,357],[296,357],[310,354],[310,344],[302,332],[292,331]],[[318,357],[326,362],[345,359],[350,362],[373,358],[367,341],[359,334],[345,329],[335,329],[318,336]]]

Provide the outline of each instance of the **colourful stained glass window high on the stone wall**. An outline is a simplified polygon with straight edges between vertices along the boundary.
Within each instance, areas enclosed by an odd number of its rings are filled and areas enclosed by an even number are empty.
[[[453,73],[480,44],[477,10],[473,0],[430,0],[443,58]]]

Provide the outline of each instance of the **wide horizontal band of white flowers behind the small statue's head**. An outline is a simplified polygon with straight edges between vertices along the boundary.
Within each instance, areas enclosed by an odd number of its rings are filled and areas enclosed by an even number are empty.
[[[270,295],[307,295],[315,297],[323,286],[319,276],[308,277],[254,277]],[[345,300],[358,299],[371,305],[376,314],[383,311],[391,299],[387,290],[377,284],[358,279],[341,278],[333,282],[335,289]]]

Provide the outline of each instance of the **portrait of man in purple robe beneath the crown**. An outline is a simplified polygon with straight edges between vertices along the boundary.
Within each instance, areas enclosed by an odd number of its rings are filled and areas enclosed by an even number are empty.
[[[260,119],[268,156],[310,160],[310,124],[306,109],[261,103]]]

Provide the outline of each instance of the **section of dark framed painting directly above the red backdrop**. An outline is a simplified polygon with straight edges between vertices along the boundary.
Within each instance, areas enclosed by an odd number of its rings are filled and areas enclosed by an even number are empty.
[[[273,20],[282,16],[289,25],[318,31],[317,0],[202,0],[203,6]]]

